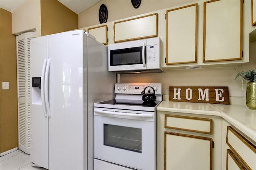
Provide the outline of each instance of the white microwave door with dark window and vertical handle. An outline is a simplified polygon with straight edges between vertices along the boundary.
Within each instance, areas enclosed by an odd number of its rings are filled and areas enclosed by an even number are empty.
[[[146,69],[146,40],[110,44],[108,46],[108,71]]]

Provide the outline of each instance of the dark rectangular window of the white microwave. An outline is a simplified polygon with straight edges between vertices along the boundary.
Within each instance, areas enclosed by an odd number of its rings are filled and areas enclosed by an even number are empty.
[[[130,64],[142,64],[142,47],[132,47],[110,51],[111,66]]]

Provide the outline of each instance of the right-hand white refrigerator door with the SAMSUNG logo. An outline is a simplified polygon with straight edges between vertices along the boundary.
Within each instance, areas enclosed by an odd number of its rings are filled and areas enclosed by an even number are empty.
[[[81,170],[86,161],[83,80],[86,45],[82,30],[48,36],[49,169]]]

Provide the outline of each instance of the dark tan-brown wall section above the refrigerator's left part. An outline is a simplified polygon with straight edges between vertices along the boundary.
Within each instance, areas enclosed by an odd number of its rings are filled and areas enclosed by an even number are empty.
[[[78,28],[78,15],[57,0],[41,0],[42,36]]]

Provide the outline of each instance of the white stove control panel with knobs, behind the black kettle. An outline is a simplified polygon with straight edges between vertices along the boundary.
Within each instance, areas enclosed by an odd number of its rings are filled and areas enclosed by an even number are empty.
[[[115,94],[140,94],[147,86],[153,87],[156,95],[162,95],[162,83],[116,83]]]

